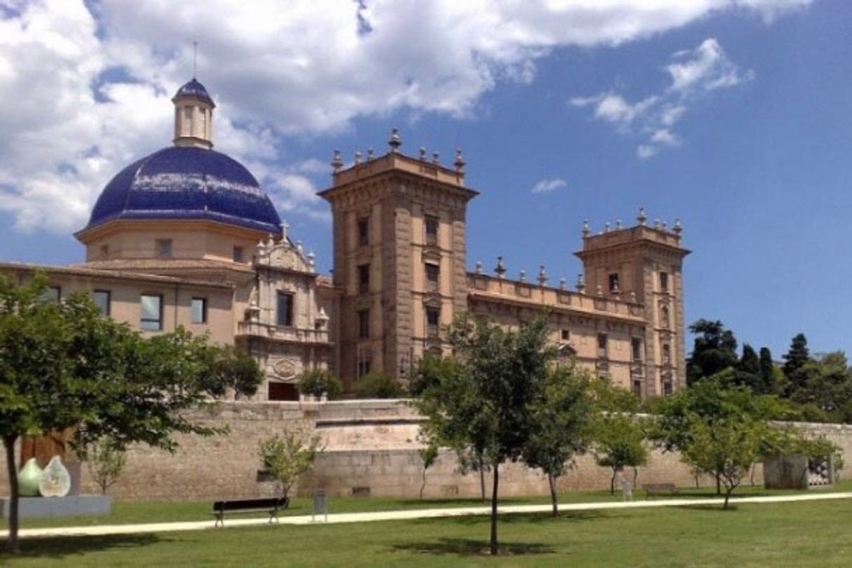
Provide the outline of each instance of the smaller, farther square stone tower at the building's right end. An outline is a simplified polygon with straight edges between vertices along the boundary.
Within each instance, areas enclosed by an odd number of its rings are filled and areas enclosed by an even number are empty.
[[[642,363],[631,370],[630,386],[645,398],[686,386],[682,262],[689,251],[681,246],[679,221],[671,229],[659,221],[649,226],[644,209],[636,221],[628,228],[607,225],[598,234],[585,225],[583,250],[575,254],[583,261],[588,294],[643,307],[644,336],[631,346]]]

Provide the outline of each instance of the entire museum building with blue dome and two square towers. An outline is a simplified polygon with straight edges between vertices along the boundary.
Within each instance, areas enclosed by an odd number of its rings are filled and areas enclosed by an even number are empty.
[[[258,401],[298,398],[302,370],[327,368],[349,391],[383,371],[405,382],[424,354],[450,353],[442,327],[459,313],[507,327],[546,312],[562,357],[647,398],[685,385],[682,227],[582,230],[574,290],[541,267],[509,278],[502,258],[468,270],[466,212],[478,192],[452,166],[400,152],[331,161],[333,273],[294,241],[248,169],[213,149],[214,101],[193,78],[172,99],[173,145],[130,164],[101,192],[75,236],[85,261],[0,263],[19,281],[48,274],[57,300],[92,295],[143,334],[182,325],[254,355]]]

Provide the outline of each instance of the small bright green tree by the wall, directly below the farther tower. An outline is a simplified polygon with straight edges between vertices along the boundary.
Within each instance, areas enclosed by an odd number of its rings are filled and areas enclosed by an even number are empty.
[[[648,462],[646,427],[641,418],[627,413],[606,413],[599,417],[595,428],[595,461],[602,468],[611,468],[610,494],[615,493],[615,477],[625,468],[633,468],[633,486],[636,486],[636,468]]]

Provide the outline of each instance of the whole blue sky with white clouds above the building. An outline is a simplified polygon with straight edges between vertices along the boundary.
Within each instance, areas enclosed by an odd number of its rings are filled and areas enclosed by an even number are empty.
[[[83,260],[72,232],[169,146],[176,89],[331,268],[333,150],[467,161],[468,264],[581,272],[580,228],[684,227],[686,321],[776,359],[852,352],[848,0],[0,0],[0,259]]]

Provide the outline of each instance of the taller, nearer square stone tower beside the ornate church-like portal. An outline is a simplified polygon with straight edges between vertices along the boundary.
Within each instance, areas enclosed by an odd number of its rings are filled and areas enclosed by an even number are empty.
[[[464,161],[452,168],[438,155],[355,154],[332,161],[333,284],[341,294],[340,363],[347,389],[359,376],[383,371],[405,382],[423,353],[446,349],[440,325],[467,307],[465,215],[477,192],[464,187]]]

